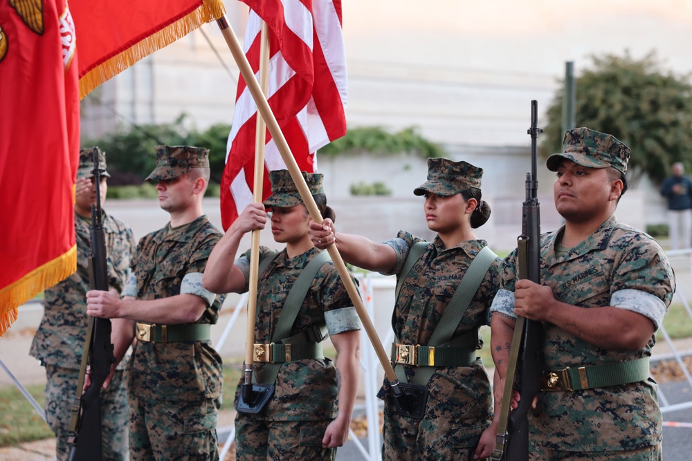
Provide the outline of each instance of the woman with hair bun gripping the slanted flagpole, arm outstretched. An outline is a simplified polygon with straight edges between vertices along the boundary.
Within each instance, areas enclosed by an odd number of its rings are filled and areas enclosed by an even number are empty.
[[[414,193],[426,196],[426,214],[436,215],[428,225],[440,233],[426,245],[423,255],[407,274],[402,273],[404,261],[411,247],[424,241],[422,238],[401,231],[397,238],[376,244],[376,247],[385,245],[386,248],[379,247],[380,252],[386,250],[392,255],[387,263],[379,265],[372,263],[375,257],[370,261],[358,261],[358,253],[363,253],[372,242],[351,242],[353,236],[341,232],[334,234],[345,261],[379,270],[385,275],[396,275],[398,280],[404,278],[392,316],[394,333],[401,344],[425,346],[429,343],[459,281],[477,254],[487,246],[486,241],[475,238],[471,230],[484,223],[489,216],[487,203],[480,199],[481,178],[482,169],[466,162],[451,162],[442,158],[428,160],[428,181],[415,189]],[[469,194],[471,189],[475,189],[473,199],[471,195],[464,195]],[[461,194],[461,198],[460,208],[454,209],[459,217],[453,217],[457,226],[453,227],[453,232],[457,233],[463,228],[464,234],[462,238],[448,238],[450,228],[440,225],[438,221],[450,216],[437,215],[452,211],[449,208],[443,210],[441,204],[457,200],[454,198],[456,194]],[[485,220],[477,223],[470,216],[480,214],[482,207],[488,207]],[[464,210],[468,210],[468,213]],[[463,225],[459,223],[462,216],[466,216]],[[316,237],[325,238],[322,234],[316,234],[313,241]],[[326,238],[330,243],[331,235]],[[465,346],[471,353],[483,346],[477,328],[489,323],[489,308],[499,285],[499,263],[500,258],[495,258],[452,336],[458,339],[466,335],[470,341]],[[372,266],[368,267],[369,264]],[[412,382],[417,370],[423,368],[408,364],[398,366],[403,366],[408,382]],[[493,415],[491,388],[480,357],[467,366],[435,366],[426,388],[429,395],[424,416],[417,419],[396,413],[394,397],[385,379],[378,395],[385,401],[385,460],[472,460],[484,432],[489,435],[488,440],[494,441],[495,435],[489,431]],[[484,456],[490,454],[489,442],[486,450]]]

